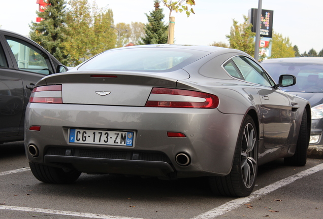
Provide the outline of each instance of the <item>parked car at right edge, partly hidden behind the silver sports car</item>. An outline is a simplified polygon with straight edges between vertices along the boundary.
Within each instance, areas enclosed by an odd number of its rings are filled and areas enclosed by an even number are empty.
[[[323,57],[268,59],[261,63],[278,80],[280,75],[296,77],[296,85],[284,91],[303,97],[311,104],[312,126],[310,145],[323,145]]]

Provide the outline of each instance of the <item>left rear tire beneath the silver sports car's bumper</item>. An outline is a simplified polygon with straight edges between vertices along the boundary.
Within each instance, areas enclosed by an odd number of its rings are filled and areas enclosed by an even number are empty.
[[[75,169],[62,169],[43,164],[29,163],[29,167],[38,180],[52,184],[69,184],[81,175],[81,172]]]

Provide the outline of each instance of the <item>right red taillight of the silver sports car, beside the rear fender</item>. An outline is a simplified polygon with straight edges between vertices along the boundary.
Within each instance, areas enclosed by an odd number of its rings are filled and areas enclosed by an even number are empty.
[[[213,94],[170,88],[153,88],[145,106],[175,108],[216,108],[219,98]]]

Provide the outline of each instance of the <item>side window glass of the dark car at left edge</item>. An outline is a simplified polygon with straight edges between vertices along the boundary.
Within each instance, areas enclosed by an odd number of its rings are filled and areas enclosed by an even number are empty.
[[[6,39],[15,56],[19,69],[43,75],[53,73],[49,57],[40,49],[10,36],[6,36]]]

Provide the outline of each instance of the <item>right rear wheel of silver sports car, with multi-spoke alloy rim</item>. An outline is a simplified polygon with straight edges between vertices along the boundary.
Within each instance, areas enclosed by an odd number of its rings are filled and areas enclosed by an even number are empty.
[[[257,132],[252,118],[246,115],[239,132],[231,172],[227,176],[209,177],[213,193],[237,197],[250,195],[257,176],[257,161]]]

